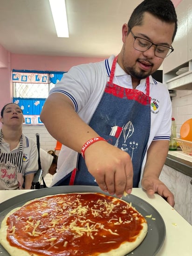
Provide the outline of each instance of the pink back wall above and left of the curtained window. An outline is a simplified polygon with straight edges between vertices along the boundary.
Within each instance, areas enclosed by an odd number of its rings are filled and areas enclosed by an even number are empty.
[[[12,101],[12,69],[68,71],[72,66],[99,62],[103,59],[10,54],[6,49],[0,48],[0,63],[2,62],[4,66],[7,65],[7,68],[0,68],[0,110],[5,104]]]

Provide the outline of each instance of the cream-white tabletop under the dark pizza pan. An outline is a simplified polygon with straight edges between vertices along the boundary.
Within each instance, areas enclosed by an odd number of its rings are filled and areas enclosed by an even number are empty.
[[[0,202],[33,190],[0,190]],[[133,195],[150,203],[165,221],[165,242],[157,256],[192,256],[192,226],[161,196],[148,196],[142,188],[133,188]]]

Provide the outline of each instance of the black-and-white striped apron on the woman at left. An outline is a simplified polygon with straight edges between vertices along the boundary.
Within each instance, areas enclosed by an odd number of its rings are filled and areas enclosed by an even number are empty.
[[[0,131],[0,143],[3,138],[3,132]],[[19,152],[3,153],[0,150],[0,188],[18,189],[22,186],[22,145],[23,137],[20,138]]]

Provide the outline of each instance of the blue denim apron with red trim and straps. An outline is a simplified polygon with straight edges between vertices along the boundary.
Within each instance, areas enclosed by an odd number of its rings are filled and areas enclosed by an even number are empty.
[[[118,56],[117,56],[118,57]],[[139,90],[126,89],[113,83],[117,57],[114,59],[110,81],[107,83],[89,126],[110,144],[130,154],[133,164],[133,187],[138,187],[141,166],[147,150],[151,128],[150,83],[146,78],[146,95]],[[79,154],[77,168],[58,185],[98,186]],[[56,184],[55,184],[56,185]]]

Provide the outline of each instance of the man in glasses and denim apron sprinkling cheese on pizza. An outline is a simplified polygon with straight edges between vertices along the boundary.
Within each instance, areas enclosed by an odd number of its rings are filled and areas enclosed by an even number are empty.
[[[119,55],[71,68],[50,91],[41,120],[65,145],[53,186],[99,186],[121,197],[141,185],[174,205],[158,179],[170,140],[171,100],[151,74],[173,51],[176,31],[171,0],[144,0],[123,24]]]

